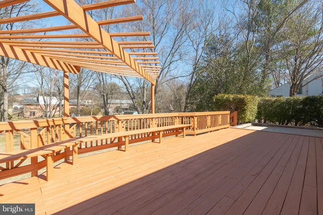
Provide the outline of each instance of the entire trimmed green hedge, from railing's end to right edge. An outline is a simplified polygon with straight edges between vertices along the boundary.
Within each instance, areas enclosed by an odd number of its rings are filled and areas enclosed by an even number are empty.
[[[238,111],[238,123],[262,122],[323,127],[323,96],[259,98],[214,96],[214,110]]]

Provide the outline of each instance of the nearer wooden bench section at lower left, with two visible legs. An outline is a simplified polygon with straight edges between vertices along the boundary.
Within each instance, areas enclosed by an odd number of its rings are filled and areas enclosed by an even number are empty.
[[[46,180],[49,181],[53,178],[53,169],[54,169],[54,154],[57,152],[60,152],[62,150],[69,151],[70,147],[72,147],[72,164],[77,163],[77,150],[78,150],[78,141],[74,140],[63,140],[60,142],[56,142],[54,144],[37,147],[33,149],[25,149],[20,151],[14,151],[14,152],[6,152],[0,154],[0,164],[1,163],[8,163],[7,169],[9,170],[9,167],[11,166],[12,170],[13,168],[19,167],[27,158],[33,158],[37,159],[34,163],[31,160],[31,164],[28,165],[26,168],[28,168],[29,172],[37,172],[38,170],[38,156],[42,156],[45,159],[45,166],[46,166]],[[68,160],[68,153],[66,153],[65,159]],[[20,160],[20,162],[16,165],[13,164],[13,162]],[[36,166],[35,166],[36,165]],[[5,168],[0,167],[2,172],[5,171]],[[36,171],[33,171],[36,170]],[[13,171],[11,171],[13,172]],[[3,178],[3,176],[1,177]]]

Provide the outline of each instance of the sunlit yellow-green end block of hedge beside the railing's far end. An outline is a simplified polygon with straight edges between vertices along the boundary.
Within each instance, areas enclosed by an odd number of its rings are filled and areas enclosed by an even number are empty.
[[[259,98],[250,95],[219,94],[213,97],[214,110],[238,111],[238,123],[253,122],[257,115]]]

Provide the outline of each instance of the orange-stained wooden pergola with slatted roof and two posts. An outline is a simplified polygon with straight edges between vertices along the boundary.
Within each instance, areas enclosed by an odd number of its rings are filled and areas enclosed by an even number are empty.
[[[4,0],[0,8],[29,0]],[[159,63],[151,41],[116,39],[149,36],[149,32],[111,33],[101,26],[142,20],[142,16],[94,21],[86,12],[135,3],[135,0],[111,0],[78,5],[73,0],[43,0],[53,11],[0,20],[1,24],[63,16],[72,24],[55,27],[0,31],[0,55],[59,69],[64,72],[64,116],[69,116],[69,73],[81,68],[117,76],[144,78],[151,83],[151,113],[154,113],[154,85]],[[62,24],[62,23],[60,23]],[[79,29],[83,33],[71,34]],[[59,32],[59,33],[58,33]],[[86,40],[81,40],[86,38]],[[70,41],[67,41],[70,40]],[[77,39],[77,40],[76,40]],[[136,51],[137,50],[137,51]],[[144,50],[139,52],[138,50]]]

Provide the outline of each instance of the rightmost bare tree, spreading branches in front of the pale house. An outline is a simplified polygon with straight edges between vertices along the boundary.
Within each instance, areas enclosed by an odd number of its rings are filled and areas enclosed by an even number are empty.
[[[290,84],[290,96],[315,79],[322,77],[323,69],[323,8],[310,2],[297,11],[282,35],[281,70]],[[304,82],[309,76],[313,79]]]

